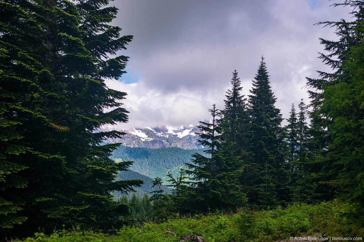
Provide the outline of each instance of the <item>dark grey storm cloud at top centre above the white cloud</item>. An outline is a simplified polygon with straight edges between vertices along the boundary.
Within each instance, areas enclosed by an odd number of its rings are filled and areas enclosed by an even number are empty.
[[[116,2],[115,2],[116,3]],[[118,4],[121,4],[118,6]],[[134,35],[130,69],[143,69],[150,85],[164,90],[221,87],[247,62],[251,44],[271,21],[259,1],[119,1],[114,21]],[[259,17],[260,16],[260,17]],[[259,56],[255,56],[259,60]],[[237,62],[237,63],[232,63]],[[226,84],[226,82],[225,82]]]

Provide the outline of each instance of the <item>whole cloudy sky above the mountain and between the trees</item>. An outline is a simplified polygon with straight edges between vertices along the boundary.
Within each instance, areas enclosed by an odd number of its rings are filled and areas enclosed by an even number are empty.
[[[343,2],[337,0],[336,2]],[[328,0],[118,0],[112,22],[133,35],[126,71],[107,86],[125,91],[129,122],[118,128],[174,127],[209,120],[215,103],[223,108],[236,69],[249,95],[261,56],[289,117],[292,103],[309,102],[305,77],[329,71],[317,58],[318,38],[336,40],[335,29],[314,25],[351,17],[348,7]],[[286,122],[282,123],[283,125]]]

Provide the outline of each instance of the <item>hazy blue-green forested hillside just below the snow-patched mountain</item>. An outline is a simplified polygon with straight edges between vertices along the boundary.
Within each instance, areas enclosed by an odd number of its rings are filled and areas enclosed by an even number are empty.
[[[112,152],[111,159],[116,161],[134,161],[130,167],[144,176],[151,178],[160,177],[163,184],[168,184],[166,180],[167,173],[170,172],[173,177],[178,176],[179,169],[185,168],[184,163],[190,162],[191,155],[202,153],[203,149],[181,149],[177,147],[168,148],[140,148],[120,146]],[[137,179],[137,178],[135,178]]]

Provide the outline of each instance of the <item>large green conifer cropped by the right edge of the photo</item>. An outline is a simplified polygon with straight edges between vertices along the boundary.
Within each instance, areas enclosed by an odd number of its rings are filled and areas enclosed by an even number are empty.
[[[364,211],[364,129],[363,129],[363,69],[364,69],[364,2],[346,0],[341,4],[353,9],[353,21],[320,22],[336,28],[338,41],[321,40],[329,54],[321,54],[333,73],[319,72],[320,79],[308,78],[313,116],[321,118],[319,125],[327,131],[329,148],[325,156],[328,175],[321,183],[336,189],[337,196],[352,204],[351,215],[363,225]]]

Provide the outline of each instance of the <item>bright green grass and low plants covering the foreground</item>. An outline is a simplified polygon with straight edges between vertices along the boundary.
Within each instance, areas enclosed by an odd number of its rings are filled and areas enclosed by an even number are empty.
[[[326,233],[327,236],[363,237],[363,227],[340,216],[349,205],[339,202],[319,205],[294,204],[286,208],[254,211],[241,209],[238,213],[215,211],[210,214],[179,214],[169,222],[148,222],[124,226],[115,235],[101,231],[55,231],[51,235],[36,233],[21,241],[33,242],[164,242],[179,241],[180,236],[190,233],[200,235],[207,242],[224,241],[277,241],[290,236]],[[171,231],[173,234],[165,233]]]

